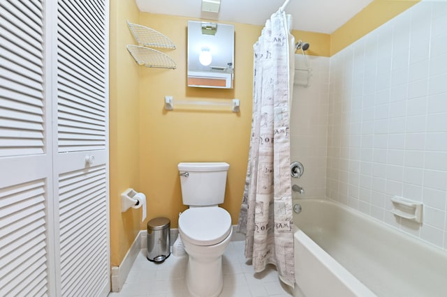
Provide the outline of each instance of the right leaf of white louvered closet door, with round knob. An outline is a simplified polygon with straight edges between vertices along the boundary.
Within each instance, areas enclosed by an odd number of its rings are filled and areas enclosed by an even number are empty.
[[[57,295],[110,291],[108,2],[58,0],[54,54]]]

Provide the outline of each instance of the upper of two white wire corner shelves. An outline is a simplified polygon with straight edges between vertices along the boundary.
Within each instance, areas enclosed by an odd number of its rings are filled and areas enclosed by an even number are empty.
[[[142,26],[140,24],[133,24],[129,21],[127,21],[127,25],[139,45],[175,50],[174,43],[159,31],[155,31],[154,29],[150,29],[147,26]]]

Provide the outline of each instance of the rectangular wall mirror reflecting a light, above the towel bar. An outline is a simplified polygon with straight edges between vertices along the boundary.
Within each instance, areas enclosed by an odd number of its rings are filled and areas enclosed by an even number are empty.
[[[188,86],[233,89],[235,27],[188,21]]]

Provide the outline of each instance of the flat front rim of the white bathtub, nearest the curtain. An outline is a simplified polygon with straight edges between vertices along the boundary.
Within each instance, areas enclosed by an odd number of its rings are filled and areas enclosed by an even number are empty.
[[[328,271],[330,271],[330,273],[332,273],[332,275],[334,275],[339,282],[344,284],[346,289],[351,291],[353,296],[376,296],[370,289],[368,289],[368,287],[365,286],[365,284],[360,282],[357,277],[347,271],[346,268],[344,268],[334,258],[332,258],[330,254],[325,252],[325,250],[312,241],[312,239],[298,227],[295,229],[294,237],[297,241],[302,243],[302,245],[305,245],[305,248],[307,248],[307,250],[312,253],[316,259],[318,259],[318,261],[324,263],[325,267],[328,268]],[[300,285],[298,280],[297,284],[298,286]]]

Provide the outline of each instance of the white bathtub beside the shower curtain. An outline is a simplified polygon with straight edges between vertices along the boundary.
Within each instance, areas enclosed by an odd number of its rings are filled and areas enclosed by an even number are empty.
[[[447,296],[447,252],[329,200],[296,199],[295,296]]]

